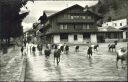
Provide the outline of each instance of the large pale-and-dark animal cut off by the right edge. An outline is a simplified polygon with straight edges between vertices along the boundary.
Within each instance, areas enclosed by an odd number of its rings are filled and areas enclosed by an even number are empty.
[[[116,52],[116,55],[116,67],[118,68],[118,61],[121,60],[122,68],[125,68],[126,66],[124,67],[123,62],[128,59],[128,51],[124,48],[121,48]]]

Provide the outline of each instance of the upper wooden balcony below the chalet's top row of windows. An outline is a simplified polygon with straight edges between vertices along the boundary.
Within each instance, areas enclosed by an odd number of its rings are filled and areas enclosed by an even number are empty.
[[[94,23],[93,19],[59,19],[57,23]]]

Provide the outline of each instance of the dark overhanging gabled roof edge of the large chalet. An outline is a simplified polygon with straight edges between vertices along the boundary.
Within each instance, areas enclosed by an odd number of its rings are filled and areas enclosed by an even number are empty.
[[[73,6],[70,6],[70,7],[66,8],[66,9],[63,9],[63,10],[61,10],[61,11],[59,11],[59,12],[56,12],[56,13],[50,15],[48,18],[52,18],[52,17],[54,17],[54,16],[56,16],[56,15],[58,15],[58,14],[61,14],[61,13],[65,12],[66,10],[69,10],[69,9],[71,9],[71,8],[73,8],[73,7],[79,7],[79,8],[81,8],[81,9],[84,9],[84,7],[82,7],[82,6],[78,5],[78,4],[75,4],[75,5],[73,5]],[[92,14],[98,16],[98,17],[102,17],[102,16],[99,15],[98,13],[94,13],[93,11],[91,11],[91,10],[89,10],[89,9],[88,9],[87,11],[85,11],[85,12],[90,12],[90,13],[92,13]]]

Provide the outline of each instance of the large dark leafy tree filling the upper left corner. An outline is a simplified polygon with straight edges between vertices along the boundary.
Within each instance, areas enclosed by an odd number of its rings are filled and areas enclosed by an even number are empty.
[[[6,43],[9,43],[10,37],[19,37],[23,34],[21,22],[29,12],[19,12],[27,1],[29,0],[0,0],[0,39],[6,39]]]

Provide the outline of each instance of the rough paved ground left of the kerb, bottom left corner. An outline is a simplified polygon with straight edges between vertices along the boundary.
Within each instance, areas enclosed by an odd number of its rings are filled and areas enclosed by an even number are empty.
[[[18,81],[22,71],[22,60],[20,47],[9,48],[8,53],[0,54],[0,81]]]

